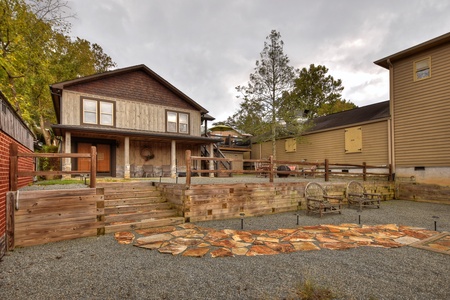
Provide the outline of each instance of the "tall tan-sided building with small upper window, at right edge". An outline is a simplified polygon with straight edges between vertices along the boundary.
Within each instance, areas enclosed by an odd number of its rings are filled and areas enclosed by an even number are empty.
[[[390,75],[396,179],[450,185],[450,33],[375,64]]]

